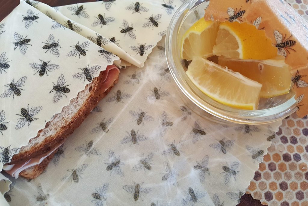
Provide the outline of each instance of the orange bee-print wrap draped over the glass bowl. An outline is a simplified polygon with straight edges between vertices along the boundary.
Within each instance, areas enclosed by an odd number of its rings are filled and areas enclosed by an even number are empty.
[[[307,7],[305,4],[301,6]],[[298,4],[294,8],[298,8]],[[223,0],[216,0],[210,1],[205,10],[205,19],[247,22],[264,30],[265,35],[277,47],[278,54],[285,56],[285,62],[291,66],[298,116],[307,115],[308,23],[298,12],[283,0],[230,1],[228,4]]]

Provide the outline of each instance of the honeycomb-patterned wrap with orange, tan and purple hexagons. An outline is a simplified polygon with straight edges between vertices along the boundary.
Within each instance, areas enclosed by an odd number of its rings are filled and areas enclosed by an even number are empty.
[[[308,0],[287,0],[291,5]],[[306,8],[305,7],[305,8]],[[308,19],[308,10],[307,10]],[[308,119],[295,114],[282,121],[268,153],[247,189],[273,206],[308,206]]]

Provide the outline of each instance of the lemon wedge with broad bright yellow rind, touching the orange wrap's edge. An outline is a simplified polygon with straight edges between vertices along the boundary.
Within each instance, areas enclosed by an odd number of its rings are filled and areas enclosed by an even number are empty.
[[[248,23],[223,22],[219,25],[216,45],[213,54],[230,59],[271,59],[277,56],[278,50],[272,41]]]

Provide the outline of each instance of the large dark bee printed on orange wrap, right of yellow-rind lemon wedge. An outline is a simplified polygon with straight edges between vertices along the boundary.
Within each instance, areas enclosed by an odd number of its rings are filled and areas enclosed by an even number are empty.
[[[282,38],[282,34],[280,32],[278,32],[277,30],[274,30],[274,36],[275,36],[275,40],[276,40],[276,44],[275,47],[278,48],[278,54],[286,57],[287,53],[290,54],[290,50],[296,52],[293,48],[291,48],[292,46],[294,46],[296,44],[296,41],[294,40],[290,40],[290,38],[292,37],[292,35],[286,39],[286,35],[285,37]]]

